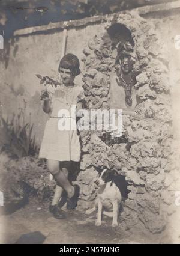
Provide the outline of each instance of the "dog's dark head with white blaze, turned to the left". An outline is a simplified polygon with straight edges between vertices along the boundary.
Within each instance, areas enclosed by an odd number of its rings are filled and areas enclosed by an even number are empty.
[[[118,172],[115,170],[103,169],[100,177],[95,181],[95,184],[103,186],[107,182],[114,181],[116,176],[118,176]]]

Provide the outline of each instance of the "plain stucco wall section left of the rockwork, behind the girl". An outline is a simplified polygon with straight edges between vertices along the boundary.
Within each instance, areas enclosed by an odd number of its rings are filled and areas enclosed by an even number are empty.
[[[82,49],[86,46],[89,38],[100,31],[100,25],[70,29],[68,31],[66,52],[74,53],[81,59],[83,56]],[[17,114],[20,107],[25,109],[25,117],[28,120],[29,113],[31,113],[37,144],[41,142],[47,117],[42,111],[39,101],[40,91],[43,90],[44,85],[40,85],[40,81],[35,74],[58,78],[62,37],[63,32],[58,31],[52,34],[13,38],[10,41],[10,52],[6,62],[7,68],[5,72],[2,72],[2,114],[7,114],[8,116],[13,112]],[[82,62],[80,62],[80,65],[80,68],[83,69]],[[82,85],[82,76],[79,75],[75,82]],[[26,103],[23,99],[25,99]],[[7,104],[7,102],[10,102],[10,104]]]

